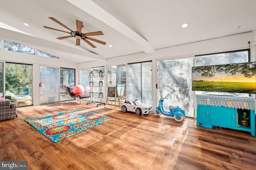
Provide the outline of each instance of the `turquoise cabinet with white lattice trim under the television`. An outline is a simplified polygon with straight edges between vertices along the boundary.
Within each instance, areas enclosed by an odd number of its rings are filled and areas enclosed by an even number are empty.
[[[252,136],[255,136],[255,113],[254,108],[248,106],[248,101],[245,101],[243,99],[243,102],[237,102],[236,100],[238,99],[232,99],[229,97],[214,97],[213,99],[208,99],[208,97],[206,100],[203,100],[203,97],[201,96],[200,100],[197,100],[197,126],[202,125],[203,127],[207,127],[210,125],[232,128],[236,130],[251,132]],[[211,101],[212,103],[218,103],[218,106],[215,106],[214,104],[210,103]],[[227,104],[225,104],[223,101]],[[253,104],[254,107],[254,102],[250,101],[250,104]],[[241,109],[236,106],[232,107],[232,105],[243,105],[244,108]],[[250,109],[245,107],[248,107]],[[246,112],[247,117],[249,118],[248,127],[243,127],[241,124],[243,112]]]

